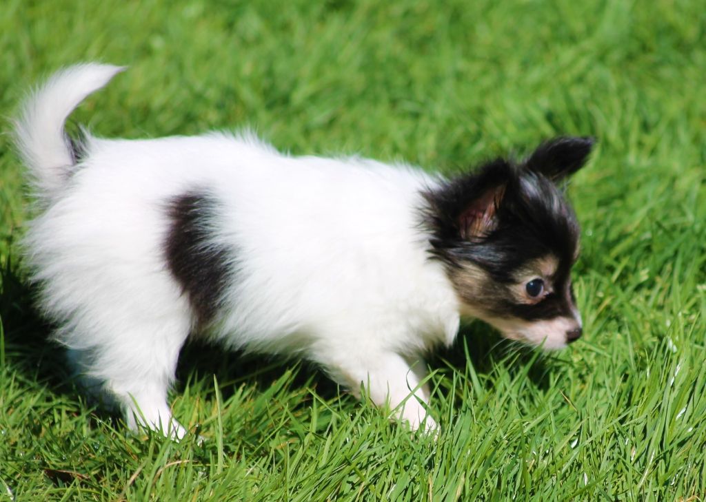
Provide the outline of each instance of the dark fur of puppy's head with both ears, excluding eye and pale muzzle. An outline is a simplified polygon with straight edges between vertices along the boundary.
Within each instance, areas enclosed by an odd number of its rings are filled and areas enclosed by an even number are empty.
[[[540,146],[525,162],[491,161],[424,193],[431,256],[445,264],[457,292],[469,305],[493,316],[527,321],[571,315],[570,269],[580,231],[554,180],[578,170],[590,145],[592,142],[583,138],[560,138]],[[467,208],[488,199],[486,194],[493,191],[502,196],[493,202],[492,224],[486,233],[464,238]],[[510,291],[515,271],[548,256],[558,259],[552,281],[556,293],[536,305],[517,303]],[[465,265],[484,271],[486,283],[467,287],[467,280],[461,277]]]

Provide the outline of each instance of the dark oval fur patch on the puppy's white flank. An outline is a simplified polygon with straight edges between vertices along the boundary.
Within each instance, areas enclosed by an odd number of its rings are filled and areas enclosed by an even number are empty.
[[[172,225],[164,242],[167,265],[189,296],[199,326],[213,321],[232,278],[232,252],[213,242],[219,205],[205,192],[169,202]]]

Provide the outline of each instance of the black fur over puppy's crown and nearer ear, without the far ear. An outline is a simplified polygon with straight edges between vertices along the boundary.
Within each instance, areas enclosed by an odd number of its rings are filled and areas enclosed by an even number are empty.
[[[462,238],[460,214],[498,184],[505,191],[496,208],[495,227],[480,238]],[[468,260],[496,281],[510,283],[513,272],[529,260],[554,255],[560,268],[573,262],[578,223],[561,192],[544,176],[494,161],[424,196],[429,204],[424,213],[431,231],[431,254],[450,267]]]

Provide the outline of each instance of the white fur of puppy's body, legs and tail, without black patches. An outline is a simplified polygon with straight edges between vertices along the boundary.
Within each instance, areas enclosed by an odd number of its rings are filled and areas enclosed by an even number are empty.
[[[425,418],[433,427],[419,361],[453,341],[460,309],[419,227],[419,192],[438,180],[366,159],[291,157],[220,133],[89,136],[85,158],[71,166],[66,116],[120,69],[56,74],[17,124],[47,202],[30,224],[28,257],[44,284],[42,305],[61,324],[56,338],[78,367],[104,384],[131,426],[183,436],[167,388],[195,319],[164,259],[165,207],[208,190],[227,209],[215,240],[237,250],[239,267],[211,336],[231,348],[301,354],[354,393],[363,384],[378,405],[400,407],[413,428]]]

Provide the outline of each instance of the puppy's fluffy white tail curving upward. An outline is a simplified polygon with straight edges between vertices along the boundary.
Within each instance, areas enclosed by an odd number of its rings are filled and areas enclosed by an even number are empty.
[[[15,142],[30,170],[37,197],[52,199],[76,164],[64,123],[80,102],[106,85],[121,66],[84,63],[55,73],[25,102],[15,121]]]

